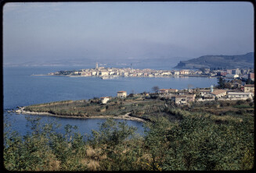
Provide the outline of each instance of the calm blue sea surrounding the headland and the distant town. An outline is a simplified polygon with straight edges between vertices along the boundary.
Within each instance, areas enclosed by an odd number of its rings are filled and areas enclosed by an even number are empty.
[[[56,131],[64,132],[65,125],[76,125],[83,135],[92,134],[104,118],[80,119],[57,118],[46,115],[16,115],[10,110],[31,104],[52,101],[88,100],[93,97],[116,97],[117,91],[125,90],[128,94],[139,94],[144,91],[153,92],[152,87],[186,89],[188,86],[210,87],[217,85],[217,79],[207,77],[117,77],[101,79],[99,77],[68,77],[68,76],[34,76],[45,75],[59,70],[92,69],[93,66],[4,66],[3,67],[3,122],[10,125],[13,131],[21,136],[31,132],[27,118],[40,117],[41,124],[56,122],[61,125]],[[147,67],[142,67],[147,68]],[[153,69],[153,67],[150,67]],[[158,68],[159,69],[159,68]],[[126,122],[137,128],[137,133],[144,134],[143,122],[115,120]],[[5,125],[3,125],[4,131]],[[8,128],[9,129],[9,128]]]

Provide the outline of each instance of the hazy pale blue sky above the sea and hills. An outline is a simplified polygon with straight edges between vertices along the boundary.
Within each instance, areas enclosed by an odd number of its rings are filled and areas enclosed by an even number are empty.
[[[254,8],[250,2],[7,3],[3,51],[4,64],[242,55],[254,51]]]

